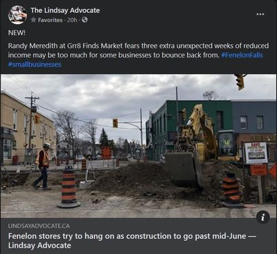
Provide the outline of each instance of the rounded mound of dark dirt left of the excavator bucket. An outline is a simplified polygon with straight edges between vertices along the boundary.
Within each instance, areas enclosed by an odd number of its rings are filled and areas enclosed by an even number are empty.
[[[173,185],[163,165],[132,163],[96,179],[92,190],[157,198],[174,198],[180,190]]]

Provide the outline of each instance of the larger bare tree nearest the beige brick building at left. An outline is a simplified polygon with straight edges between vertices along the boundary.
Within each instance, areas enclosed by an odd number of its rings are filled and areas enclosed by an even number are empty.
[[[60,132],[63,140],[72,148],[72,154],[75,157],[75,150],[78,138],[78,126],[76,124],[75,114],[68,110],[58,111],[54,116],[55,126]]]

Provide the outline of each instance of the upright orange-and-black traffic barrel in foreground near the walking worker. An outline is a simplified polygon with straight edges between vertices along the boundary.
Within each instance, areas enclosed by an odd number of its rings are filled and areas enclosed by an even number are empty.
[[[80,206],[80,203],[76,200],[75,172],[71,166],[66,166],[62,172],[62,201],[57,206],[59,208]]]

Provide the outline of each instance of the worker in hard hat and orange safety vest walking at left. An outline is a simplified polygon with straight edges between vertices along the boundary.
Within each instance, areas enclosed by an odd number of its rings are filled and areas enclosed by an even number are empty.
[[[39,166],[39,170],[42,172],[42,175],[39,176],[38,179],[32,184],[35,190],[38,189],[37,183],[42,181],[42,188],[43,190],[51,190],[51,188],[47,187],[47,169],[49,167],[49,156],[48,150],[50,149],[49,143],[44,143],[43,149],[39,152],[38,159],[36,160]]]

